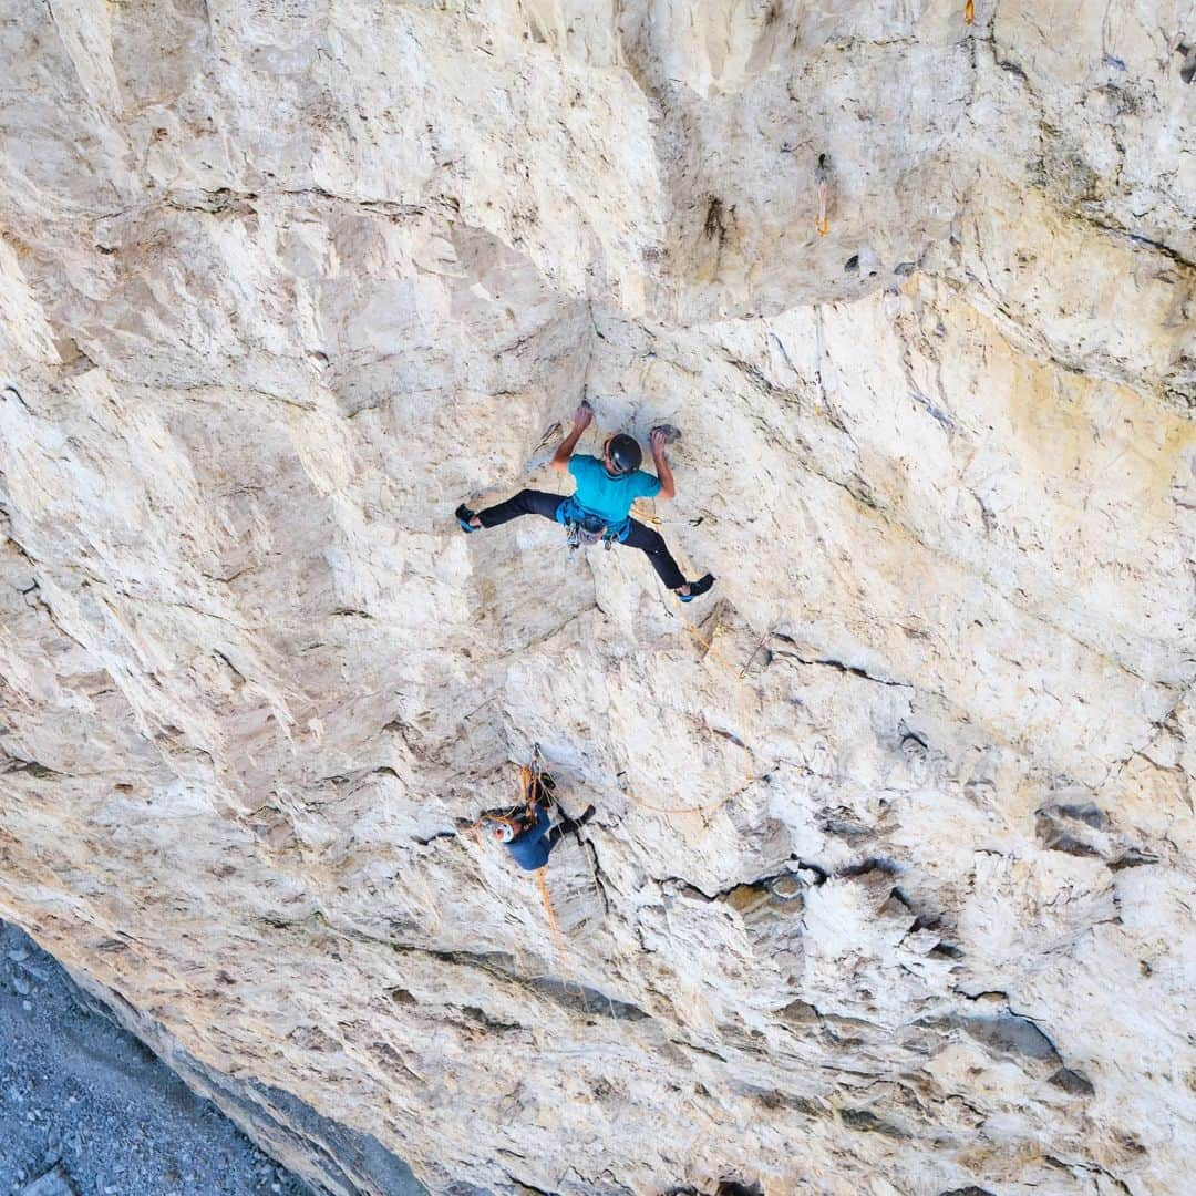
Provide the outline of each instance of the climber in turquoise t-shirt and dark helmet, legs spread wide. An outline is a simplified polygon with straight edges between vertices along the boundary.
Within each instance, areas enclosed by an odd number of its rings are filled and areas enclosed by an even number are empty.
[[[624,433],[608,438],[600,460],[588,453],[574,454],[573,450],[593,417],[593,409],[582,402],[573,416],[573,431],[553,456],[553,469],[572,474],[576,480],[576,489],[569,498],[545,490],[520,490],[506,502],[484,511],[474,512],[462,504],[456,512],[462,531],[496,527],[520,515],[555,519],[569,529],[572,543],[592,544],[603,539],[606,544],[628,544],[647,553],[665,586],[682,602],[692,602],[714,585],[713,575],[707,573],[697,581],[687,581],[664,537],[630,518],[636,499],[671,499],[677,493],[665,457],[667,434],[660,428],[652,431],[652,460],[657,468],[653,477],[640,469],[643,453],[635,438]]]

